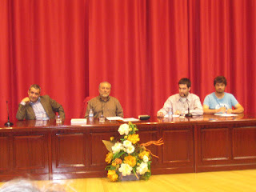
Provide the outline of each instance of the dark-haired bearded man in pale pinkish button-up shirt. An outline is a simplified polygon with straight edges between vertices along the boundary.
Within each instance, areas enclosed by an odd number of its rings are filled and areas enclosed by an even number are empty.
[[[161,110],[158,110],[158,117],[165,116],[169,110],[172,114],[188,113],[188,105],[190,114],[202,115],[202,104],[200,99],[195,94],[190,94],[191,82],[189,78],[182,78],[178,82],[179,93],[168,98]]]

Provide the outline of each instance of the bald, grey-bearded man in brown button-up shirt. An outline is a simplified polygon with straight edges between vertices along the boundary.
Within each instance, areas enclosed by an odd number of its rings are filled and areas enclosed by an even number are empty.
[[[110,96],[111,85],[109,82],[101,82],[98,86],[99,95],[90,99],[86,108],[86,116],[88,117],[90,109],[94,111],[94,118],[99,118],[102,114],[105,117],[122,117],[123,111],[117,98]]]

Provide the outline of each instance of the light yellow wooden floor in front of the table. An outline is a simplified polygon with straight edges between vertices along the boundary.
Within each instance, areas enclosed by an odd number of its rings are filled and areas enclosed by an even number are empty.
[[[3,183],[0,183],[2,186]],[[108,178],[81,178],[36,181],[43,187],[57,186],[55,191],[255,191],[256,170],[232,170],[198,174],[152,175],[149,181],[110,182]],[[63,190],[64,189],[64,190]]]

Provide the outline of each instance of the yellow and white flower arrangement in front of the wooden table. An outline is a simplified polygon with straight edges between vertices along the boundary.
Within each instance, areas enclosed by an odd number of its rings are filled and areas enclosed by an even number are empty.
[[[120,142],[116,141],[114,137],[110,141],[102,141],[109,153],[106,154],[105,161],[109,164],[106,166],[108,170],[107,178],[111,182],[122,180],[123,176],[134,174],[137,180],[148,180],[151,175],[151,155],[150,150],[145,146],[150,144],[162,145],[162,141],[150,142],[139,145],[140,138],[136,132],[138,128],[133,123],[122,124],[118,128],[121,135]]]

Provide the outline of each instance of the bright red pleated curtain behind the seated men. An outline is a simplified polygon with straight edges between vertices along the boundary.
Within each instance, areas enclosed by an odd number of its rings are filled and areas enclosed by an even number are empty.
[[[2,0],[0,121],[34,83],[78,118],[108,81],[136,117],[155,115],[183,77],[203,102],[217,75],[255,114],[255,10],[254,0]]]

